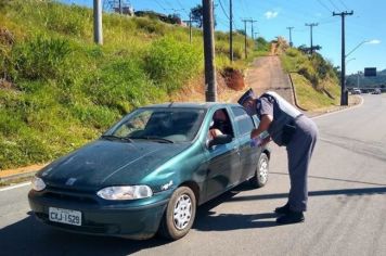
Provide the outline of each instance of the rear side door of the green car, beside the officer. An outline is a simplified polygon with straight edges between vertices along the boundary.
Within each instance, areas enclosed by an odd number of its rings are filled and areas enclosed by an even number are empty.
[[[250,146],[250,131],[255,128],[253,118],[241,106],[232,106],[231,110],[236,127],[236,139],[240,143],[239,182],[243,182],[255,174],[261,146]]]

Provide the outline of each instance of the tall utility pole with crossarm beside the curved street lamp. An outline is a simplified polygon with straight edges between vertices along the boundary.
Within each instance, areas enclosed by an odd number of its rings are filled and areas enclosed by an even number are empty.
[[[345,44],[345,17],[352,15],[351,12],[333,12],[333,16],[342,17],[342,71],[340,71],[340,105],[348,105],[348,91],[346,90],[346,44]]]

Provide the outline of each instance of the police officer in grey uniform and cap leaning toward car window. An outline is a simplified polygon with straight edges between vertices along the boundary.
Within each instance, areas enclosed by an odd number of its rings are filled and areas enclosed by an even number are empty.
[[[291,189],[287,203],[274,210],[280,215],[276,222],[285,225],[304,221],[303,213],[307,210],[308,200],[308,166],[318,137],[316,124],[272,91],[256,99],[249,89],[240,98],[239,104],[249,115],[257,114],[260,119],[257,129],[250,132],[252,139],[267,130],[270,136],[262,140],[262,144],[273,140],[287,150]]]

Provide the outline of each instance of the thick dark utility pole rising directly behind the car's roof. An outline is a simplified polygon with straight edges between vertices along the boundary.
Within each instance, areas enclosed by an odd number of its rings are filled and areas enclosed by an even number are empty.
[[[215,25],[213,0],[203,0],[204,56],[205,56],[205,98],[208,102],[217,101],[215,67]]]

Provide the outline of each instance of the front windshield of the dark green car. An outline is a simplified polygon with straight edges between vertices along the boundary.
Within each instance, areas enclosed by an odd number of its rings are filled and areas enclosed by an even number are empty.
[[[107,131],[106,136],[131,141],[159,143],[192,141],[198,132],[205,111],[200,108],[139,108]]]

